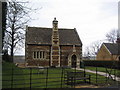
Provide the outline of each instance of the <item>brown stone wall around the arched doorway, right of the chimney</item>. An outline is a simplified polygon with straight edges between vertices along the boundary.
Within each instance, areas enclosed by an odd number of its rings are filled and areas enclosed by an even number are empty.
[[[76,51],[73,50],[73,46],[60,46],[60,48],[61,48],[60,50],[61,66],[71,66],[72,55],[77,56],[77,63],[80,64],[80,60],[82,58],[81,47],[75,47]]]

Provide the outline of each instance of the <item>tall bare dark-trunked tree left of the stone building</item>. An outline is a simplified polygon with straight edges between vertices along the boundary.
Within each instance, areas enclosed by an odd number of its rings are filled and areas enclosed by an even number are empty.
[[[4,37],[4,49],[10,50],[12,62],[15,48],[24,46],[24,26],[30,20],[29,12],[30,9],[25,6],[24,2],[7,1],[7,29]]]

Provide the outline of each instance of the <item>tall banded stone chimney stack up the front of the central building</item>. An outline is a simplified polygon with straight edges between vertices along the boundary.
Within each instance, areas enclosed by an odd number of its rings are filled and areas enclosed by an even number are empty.
[[[51,50],[51,66],[60,66],[60,47],[59,47],[59,32],[58,21],[56,18],[53,20],[52,31],[52,50]]]

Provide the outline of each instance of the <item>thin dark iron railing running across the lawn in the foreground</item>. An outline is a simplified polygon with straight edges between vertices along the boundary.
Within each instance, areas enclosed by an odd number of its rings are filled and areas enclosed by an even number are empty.
[[[107,70],[107,69],[106,69]],[[72,84],[66,84],[66,73],[74,72],[76,78],[77,68],[59,67],[59,68],[3,68],[2,71],[2,88],[75,88],[77,79],[72,81]],[[83,69],[86,74],[86,69]],[[77,73],[78,74],[78,73]],[[89,73],[90,74],[90,73]],[[107,75],[107,71],[106,71]],[[94,85],[117,83],[105,76],[96,73],[91,74],[91,83]],[[81,80],[81,83],[83,80]],[[103,82],[104,81],[104,82]],[[81,85],[79,83],[79,85]],[[89,83],[88,83],[89,84]],[[78,85],[78,83],[77,83]]]

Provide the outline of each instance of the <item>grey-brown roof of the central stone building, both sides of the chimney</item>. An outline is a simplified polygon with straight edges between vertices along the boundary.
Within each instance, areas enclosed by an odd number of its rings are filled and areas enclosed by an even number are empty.
[[[58,29],[60,45],[82,45],[76,29]],[[52,28],[28,27],[27,44],[52,45]]]

